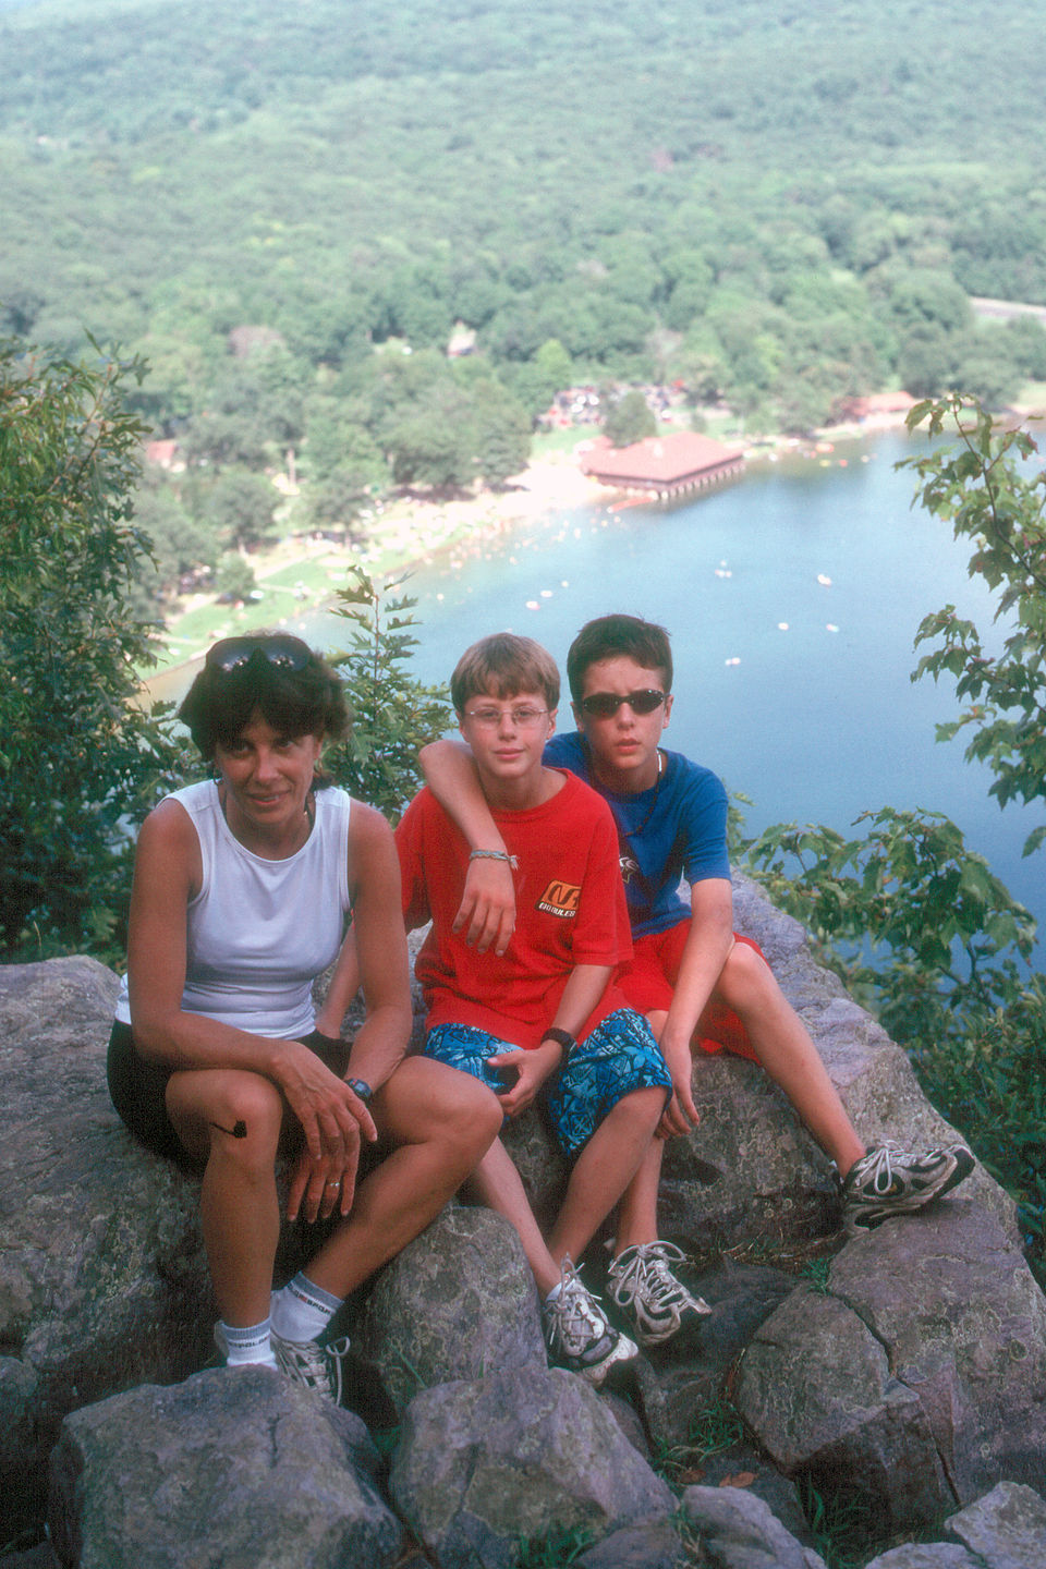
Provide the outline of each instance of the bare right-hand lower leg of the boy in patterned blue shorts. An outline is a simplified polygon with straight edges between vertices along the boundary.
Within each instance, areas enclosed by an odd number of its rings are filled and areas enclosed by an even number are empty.
[[[663,1109],[665,1090],[637,1089],[599,1123],[571,1172],[563,1208],[552,1227],[549,1252],[557,1263],[568,1254],[576,1260],[585,1252],[599,1224],[634,1181]]]

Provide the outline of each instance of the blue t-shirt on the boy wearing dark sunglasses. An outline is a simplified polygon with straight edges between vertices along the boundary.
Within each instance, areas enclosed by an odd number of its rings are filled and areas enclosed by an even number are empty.
[[[726,791],[710,769],[679,752],[665,752],[657,784],[638,795],[605,789],[591,769],[588,744],[579,731],[554,736],[544,748],[550,767],[569,769],[610,803],[618,824],[621,876],[634,937],[666,932],[685,921],[690,907],[679,896],[688,883],[729,877],[726,854]]]

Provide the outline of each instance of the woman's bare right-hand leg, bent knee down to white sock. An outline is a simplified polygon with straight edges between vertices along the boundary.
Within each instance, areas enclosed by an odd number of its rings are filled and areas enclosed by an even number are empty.
[[[439,1214],[502,1123],[486,1086],[428,1058],[400,1064],[375,1094],[373,1114],[397,1147],[359,1185],[348,1219],[306,1265],[309,1280],[332,1296],[354,1291]]]

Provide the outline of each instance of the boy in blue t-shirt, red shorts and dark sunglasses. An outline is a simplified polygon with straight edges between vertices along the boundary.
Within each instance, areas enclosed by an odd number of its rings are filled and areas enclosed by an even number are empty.
[[[969,1150],[867,1150],[759,948],[734,932],[726,791],[709,769],[660,745],[673,704],[665,629],[630,615],[599,617],[571,643],[566,672],[577,731],[554,736],[546,761],[577,772],[618,822],[634,937],[619,984],[649,1020],[671,1073],[662,1139],[696,1127],[693,1053],[726,1048],[762,1064],[834,1159],[848,1227],[877,1225],[949,1192],[972,1170]],[[461,750],[434,742],[422,763],[469,844],[500,849]],[[684,877],[688,904],[679,894]],[[514,924],[505,863],[470,863],[456,924],[477,948],[503,951]],[[657,1236],[662,1152],[656,1139],[621,1199],[608,1276],[613,1299],[646,1346],[707,1312],[673,1274],[682,1254]]]

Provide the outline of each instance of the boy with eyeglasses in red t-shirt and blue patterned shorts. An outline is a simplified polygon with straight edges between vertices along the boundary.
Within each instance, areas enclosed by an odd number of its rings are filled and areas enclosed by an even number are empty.
[[[572,1260],[643,1164],[671,1078],[612,979],[632,951],[612,813],[576,775],[543,764],[560,695],[554,661],[530,639],[486,637],[458,661],[450,693],[502,847],[470,852],[428,789],[397,828],[408,929],[433,923],[416,962],[425,1054],[480,1078],[507,1119],[544,1098],[572,1161],[547,1243],[500,1139],[470,1185],[521,1236],[554,1360],[601,1384],[637,1348]],[[455,930],[469,863],[489,855],[511,868],[516,894],[500,954]]]

